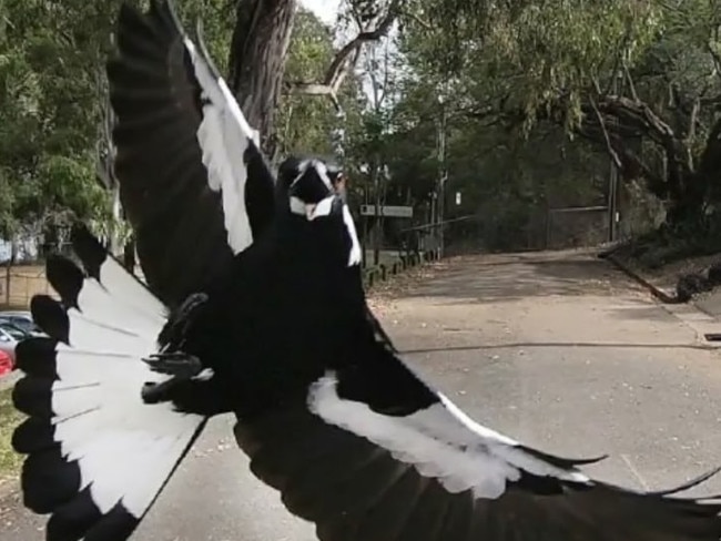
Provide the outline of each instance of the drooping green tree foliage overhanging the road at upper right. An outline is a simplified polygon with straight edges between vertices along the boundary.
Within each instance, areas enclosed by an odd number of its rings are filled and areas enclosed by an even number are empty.
[[[413,9],[399,41],[409,76],[398,114],[433,154],[433,102],[446,98],[451,181],[486,198],[485,212],[602,204],[612,149],[623,180],[641,180],[670,222],[692,218],[694,234],[712,234],[700,217],[721,208],[721,147],[709,137],[721,127],[720,2],[418,0]],[[437,172],[420,169],[408,171],[433,185]]]

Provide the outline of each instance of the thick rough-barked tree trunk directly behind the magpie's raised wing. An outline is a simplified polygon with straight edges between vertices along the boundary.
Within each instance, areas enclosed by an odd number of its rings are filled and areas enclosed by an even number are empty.
[[[261,147],[273,157],[273,120],[281,96],[297,0],[238,0],[229,59],[229,85]]]

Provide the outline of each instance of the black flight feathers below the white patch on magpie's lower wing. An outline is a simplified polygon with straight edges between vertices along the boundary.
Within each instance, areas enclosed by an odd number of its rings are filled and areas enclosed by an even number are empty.
[[[382,363],[365,358],[356,366],[375,370],[400,364],[382,344],[376,351]],[[400,401],[408,398],[403,395]],[[394,412],[406,406],[385,404],[388,414],[382,415],[397,419]],[[451,492],[423,468],[326,422],[305,400],[241,420],[235,436],[253,473],[281,491],[290,511],[314,522],[321,541],[718,541],[721,535],[721,503],[708,499],[640,493],[525,470],[496,499],[473,489]],[[568,471],[588,462],[522,446],[517,450]]]

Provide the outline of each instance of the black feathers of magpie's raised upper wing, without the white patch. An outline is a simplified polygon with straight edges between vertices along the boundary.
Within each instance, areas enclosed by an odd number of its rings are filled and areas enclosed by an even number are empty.
[[[167,1],[151,1],[145,13],[121,7],[118,52],[108,76],[121,202],[151,290],[175,308],[233,257],[222,197],[209,187],[197,140],[202,89]],[[244,159],[256,237],[273,214],[274,180],[253,145]]]

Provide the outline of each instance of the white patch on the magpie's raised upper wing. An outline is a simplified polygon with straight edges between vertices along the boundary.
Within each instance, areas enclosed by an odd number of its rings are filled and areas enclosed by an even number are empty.
[[[197,142],[203,151],[209,186],[221,192],[227,242],[234,254],[253,243],[253,232],[245,207],[247,167],[244,155],[250,142],[258,146],[260,133],[253,130],[225,81],[213,75],[194,43],[183,38],[202,89],[203,121],[197,130]]]

